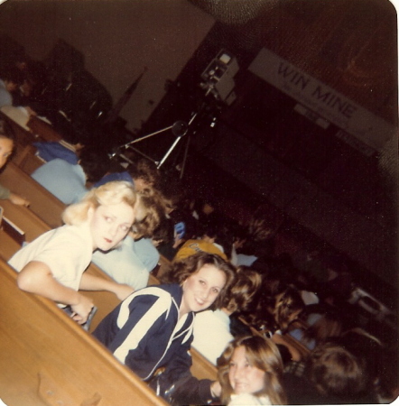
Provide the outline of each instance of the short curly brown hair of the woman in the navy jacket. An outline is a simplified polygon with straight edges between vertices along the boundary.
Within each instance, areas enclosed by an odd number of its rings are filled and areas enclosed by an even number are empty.
[[[214,266],[226,275],[225,286],[219,292],[218,298],[209,307],[212,310],[221,309],[225,302],[227,291],[229,291],[230,286],[235,281],[236,270],[233,265],[227,263],[217,254],[199,252],[172,263],[171,269],[162,276],[162,282],[182,284],[189,276],[199,272],[206,265]]]

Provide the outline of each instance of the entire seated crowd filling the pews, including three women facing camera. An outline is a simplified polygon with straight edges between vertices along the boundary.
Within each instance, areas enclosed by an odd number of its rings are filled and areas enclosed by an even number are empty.
[[[14,141],[5,125],[0,129],[3,166]],[[302,263],[294,253],[276,254],[278,229],[259,213],[238,225],[150,161],[132,156],[122,168],[94,145],[44,153],[48,146],[37,144],[46,162],[32,178],[70,206],[65,226],[9,261],[18,286],[69,307],[81,325],[94,303],[79,290],[116,293],[121,303],[93,336],[166,401],[343,404],[397,397],[395,343],[350,317],[347,269],[311,254]],[[7,189],[0,193],[29,204]],[[85,273],[91,261],[113,281]],[[148,286],[150,273],[160,285]],[[218,381],[190,374],[190,346],[217,366]]]

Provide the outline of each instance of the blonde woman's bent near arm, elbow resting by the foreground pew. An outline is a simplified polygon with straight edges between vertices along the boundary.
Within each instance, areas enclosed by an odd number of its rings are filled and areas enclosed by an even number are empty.
[[[56,281],[50,268],[45,263],[31,261],[17,276],[18,287],[23,291],[39,294],[58,303],[70,305],[76,313],[73,317],[79,324],[84,324],[93,308],[93,302],[67,286]]]

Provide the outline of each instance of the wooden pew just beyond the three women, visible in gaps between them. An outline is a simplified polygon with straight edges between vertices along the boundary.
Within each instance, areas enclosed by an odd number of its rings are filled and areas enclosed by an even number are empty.
[[[29,208],[15,206],[7,200],[3,200],[2,203],[3,202],[5,203],[3,205],[5,208],[5,217],[10,218],[17,226],[20,226],[25,231],[27,241],[32,241],[36,236],[42,235],[42,233],[50,229],[50,227],[39,217],[36,217]],[[0,232],[0,242],[2,241],[1,235],[2,232]],[[9,245],[2,244],[0,245],[0,255],[8,261],[18,248],[18,246],[13,245],[13,248],[10,249]],[[111,280],[111,278],[94,263],[90,263],[86,272]],[[157,283],[159,283],[159,281],[153,275],[150,275],[149,284]],[[115,294],[108,291],[84,291],[82,293],[90,297],[97,306],[97,313],[92,319],[90,326],[90,332],[92,332],[97,327],[98,323],[105,318],[110,311],[116,308],[120,303],[120,300],[117,299]],[[193,348],[191,349],[191,355],[191,374],[199,379],[209,378],[216,380],[216,367],[213,364],[210,364],[206,358]]]

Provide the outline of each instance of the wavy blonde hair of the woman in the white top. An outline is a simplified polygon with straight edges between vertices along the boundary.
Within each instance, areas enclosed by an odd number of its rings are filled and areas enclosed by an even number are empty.
[[[131,183],[120,180],[107,182],[89,190],[79,203],[66,208],[62,213],[62,220],[67,225],[79,226],[88,219],[89,208],[124,202],[135,209],[137,201],[135,188]]]

